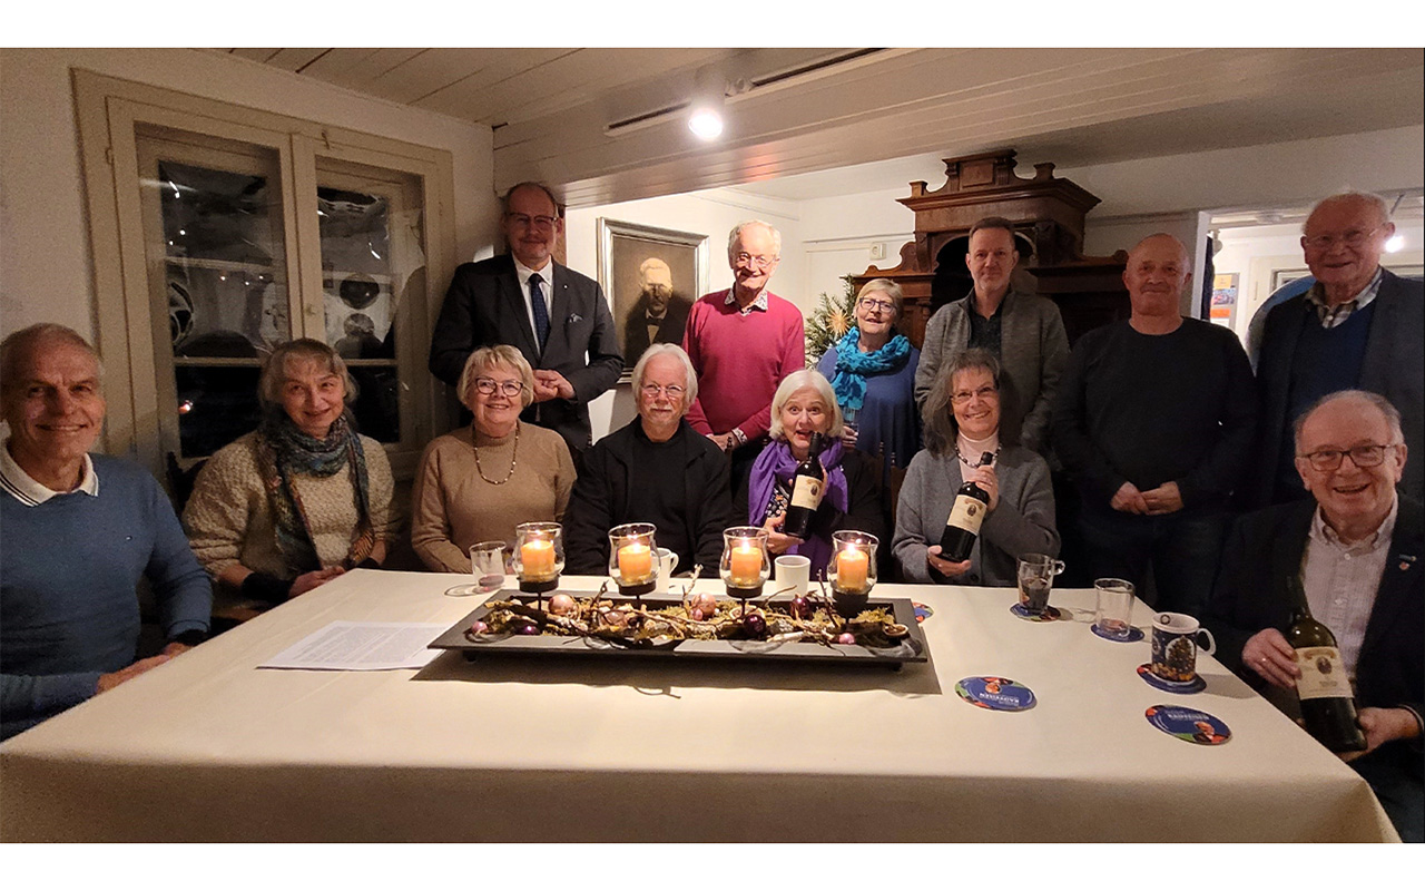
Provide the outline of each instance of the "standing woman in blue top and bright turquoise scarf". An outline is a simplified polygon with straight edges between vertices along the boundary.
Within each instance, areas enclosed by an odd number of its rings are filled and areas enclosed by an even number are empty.
[[[817,362],[841,406],[841,442],[868,455],[885,455],[891,468],[909,466],[921,449],[915,411],[915,368],[921,351],[896,334],[903,295],[889,278],[868,281],[856,295],[856,324]]]

